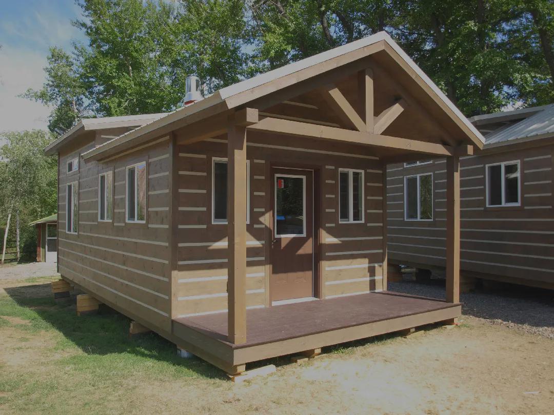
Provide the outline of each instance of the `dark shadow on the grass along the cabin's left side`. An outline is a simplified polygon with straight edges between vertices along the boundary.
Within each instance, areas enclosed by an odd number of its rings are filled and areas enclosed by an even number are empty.
[[[178,357],[175,344],[155,333],[129,338],[129,318],[106,306],[97,315],[78,317],[75,298],[56,302],[52,298],[49,283],[4,287],[4,290],[17,305],[36,313],[43,320],[35,320],[35,324],[44,328],[52,326],[87,355],[131,354],[166,362],[178,369],[190,370],[207,378],[225,377],[222,371],[197,357]]]

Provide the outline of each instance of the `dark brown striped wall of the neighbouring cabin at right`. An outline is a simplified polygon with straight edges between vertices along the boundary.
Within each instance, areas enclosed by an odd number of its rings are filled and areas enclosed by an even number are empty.
[[[461,269],[491,278],[554,288],[554,147],[460,160]],[[485,166],[520,160],[521,206],[486,207]],[[387,167],[389,261],[445,266],[446,163]],[[433,220],[404,220],[404,177],[433,173]]]

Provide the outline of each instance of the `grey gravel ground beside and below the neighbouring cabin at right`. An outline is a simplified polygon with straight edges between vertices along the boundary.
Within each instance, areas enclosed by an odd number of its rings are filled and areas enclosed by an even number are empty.
[[[444,280],[389,282],[388,289],[423,297],[444,298]],[[505,286],[460,294],[462,313],[554,339],[554,291]]]

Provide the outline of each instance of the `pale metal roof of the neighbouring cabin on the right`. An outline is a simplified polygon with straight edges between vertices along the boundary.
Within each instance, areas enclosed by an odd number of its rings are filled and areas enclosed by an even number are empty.
[[[496,129],[485,136],[486,146],[508,143],[517,139],[546,138],[554,136],[554,104],[509,111],[512,117],[525,117],[515,124]],[[497,113],[497,118],[502,113]],[[491,116],[494,116],[491,114]],[[494,117],[490,117],[493,120]]]

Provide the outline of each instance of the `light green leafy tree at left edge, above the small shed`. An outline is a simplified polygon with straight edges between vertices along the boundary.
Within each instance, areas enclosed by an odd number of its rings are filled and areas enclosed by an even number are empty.
[[[35,234],[27,224],[57,211],[58,160],[43,153],[53,137],[35,129],[1,133],[0,138],[6,141],[0,147],[3,226],[11,213],[9,240],[15,241],[15,217],[19,214],[22,231],[20,245],[28,248],[28,252],[24,253],[32,255],[33,247],[36,247]]]

